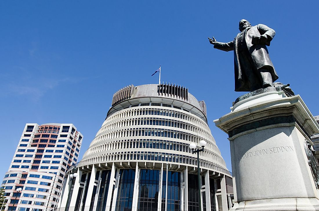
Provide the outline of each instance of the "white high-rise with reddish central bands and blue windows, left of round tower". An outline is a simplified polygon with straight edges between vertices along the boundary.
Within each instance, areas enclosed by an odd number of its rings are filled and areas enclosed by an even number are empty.
[[[26,124],[2,182],[5,210],[57,207],[66,170],[78,161],[82,139],[73,124]]]

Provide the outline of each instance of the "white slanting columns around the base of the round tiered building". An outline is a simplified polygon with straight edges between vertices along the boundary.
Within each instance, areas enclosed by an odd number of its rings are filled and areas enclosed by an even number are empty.
[[[87,168],[86,166],[85,168]],[[83,169],[80,167],[78,168],[78,176],[76,178],[72,179],[70,176],[65,178],[65,183],[67,184],[64,186],[63,190],[63,196],[62,199],[59,202],[57,210],[59,211],[96,211],[97,210],[97,204],[98,204],[98,198],[99,198],[99,190],[101,185],[101,174],[102,171],[99,171],[99,167],[95,166],[94,164],[90,166],[92,167],[91,174],[83,171]],[[119,182],[120,182],[120,170],[122,168],[117,168],[115,163],[112,163],[112,167],[110,170],[110,180],[107,190],[107,199],[106,199],[106,209],[105,211],[116,211],[116,202],[117,202],[117,196],[118,196],[118,189],[119,189]],[[130,168],[134,169],[134,168]],[[145,168],[140,168],[138,165],[138,162],[136,163],[135,167],[135,176],[134,176],[134,191],[133,191],[133,200],[132,200],[132,207],[131,211],[138,211],[138,201],[139,201],[139,180],[140,180],[140,171]],[[148,168],[149,169],[149,168]],[[154,169],[149,169],[154,170]],[[166,196],[162,196],[162,188],[163,188],[163,172],[166,171],[172,171],[169,169],[168,164],[161,164],[159,170],[159,190],[158,190],[158,203],[157,203],[157,209],[156,211],[171,211],[170,209],[167,209],[167,175],[166,173],[166,190],[164,193]],[[180,211],[189,211],[189,193],[188,193],[188,185],[189,185],[189,172],[193,170],[193,167],[185,166],[185,169],[182,171],[179,171],[181,173],[181,184],[180,184]],[[86,169],[88,171],[88,169]],[[228,210],[227,200],[229,202],[229,198],[227,198],[226,193],[226,180],[224,174],[219,173],[219,179],[214,178],[213,180],[210,179],[210,171],[207,169],[201,169],[201,180],[202,177],[204,178],[204,181],[201,181],[202,188],[201,188],[201,207],[203,207],[203,201],[205,201],[205,207],[206,211],[220,211],[220,209],[226,211]],[[80,182],[82,178],[82,174],[86,173],[85,182],[83,184],[83,181]],[[99,175],[97,175],[97,173]],[[210,182],[213,181],[214,184],[210,184]],[[217,186],[219,186],[220,182],[220,189],[217,189]],[[87,184],[88,183],[88,184]],[[214,199],[211,197],[210,193],[210,185],[214,186]],[[83,188],[83,192],[81,193],[81,199],[78,198],[78,192],[79,189]],[[85,190],[87,189],[87,190]],[[95,189],[95,192],[93,191]],[[71,191],[70,191],[71,190]],[[84,191],[85,190],[85,191]],[[205,194],[203,194],[205,192]],[[86,193],[86,194],[85,194]],[[93,195],[95,194],[95,195]],[[228,194],[229,195],[229,194]],[[203,200],[203,196],[205,199]],[[70,197],[70,198],[69,198]],[[218,200],[218,197],[221,197],[221,204],[220,200]],[[69,200],[68,200],[69,198]],[[93,200],[92,200],[93,199]],[[113,199],[113,200],[112,200]],[[162,199],[165,199],[165,207],[162,207]],[[65,205],[67,207],[65,207]],[[104,210],[103,210],[104,211]],[[152,210],[155,211],[155,210]],[[176,211],[176,210],[174,210]]]

